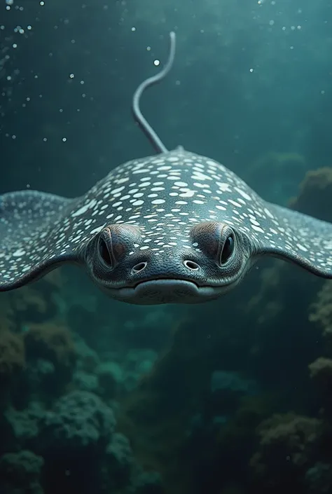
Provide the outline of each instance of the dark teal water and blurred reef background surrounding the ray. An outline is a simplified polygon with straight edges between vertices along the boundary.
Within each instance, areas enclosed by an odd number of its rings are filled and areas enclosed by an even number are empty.
[[[1,1],[1,191],[74,197],[170,149],[332,221],[331,1]],[[1,255],[1,252],[0,252]],[[0,294],[1,494],[329,494],[331,282],[261,260],[202,305],[74,266]]]

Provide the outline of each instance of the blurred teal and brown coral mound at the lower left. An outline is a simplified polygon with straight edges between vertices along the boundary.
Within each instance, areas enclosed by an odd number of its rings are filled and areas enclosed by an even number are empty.
[[[151,370],[155,351],[97,353],[69,329],[69,310],[56,295],[61,284],[47,283],[56,317],[43,284],[20,291],[20,317],[12,294],[4,304],[0,377],[8,393],[1,394],[0,488],[6,494],[163,494],[160,475],[142,469],[129,439],[116,431],[116,400]],[[41,317],[32,317],[34,310]]]

